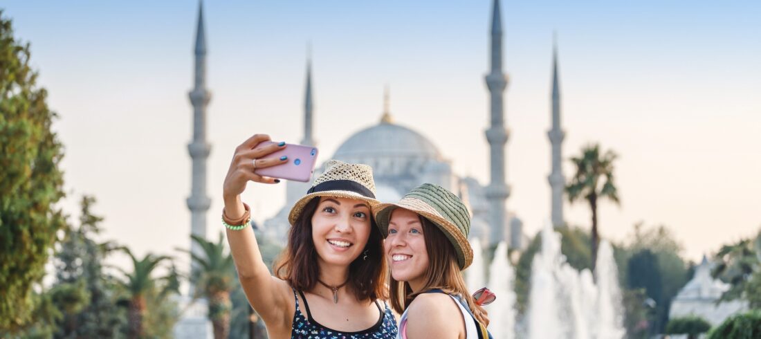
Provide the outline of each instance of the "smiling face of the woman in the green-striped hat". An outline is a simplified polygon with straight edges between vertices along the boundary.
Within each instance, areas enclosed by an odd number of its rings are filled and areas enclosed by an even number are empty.
[[[417,213],[403,208],[393,210],[384,251],[391,277],[396,281],[406,281],[413,291],[420,289],[428,269],[428,251],[423,225]]]

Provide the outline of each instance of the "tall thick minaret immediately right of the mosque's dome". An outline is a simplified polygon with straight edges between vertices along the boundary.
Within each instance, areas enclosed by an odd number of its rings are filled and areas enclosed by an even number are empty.
[[[507,228],[506,201],[510,196],[510,187],[505,183],[505,144],[508,142],[508,129],[505,128],[503,92],[508,85],[508,77],[502,73],[502,21],[499,13],[499,0],[494,0],[492,8],[492,43],[491,71],[486,75],[486,85],[491,98],[491,126],[486,130],[491,155],[491,182],[486,187],[486,199],[489,200],[489,226],[492,229],[490,245],[505,238]],[[508,242],[509,244],[509,242]]]

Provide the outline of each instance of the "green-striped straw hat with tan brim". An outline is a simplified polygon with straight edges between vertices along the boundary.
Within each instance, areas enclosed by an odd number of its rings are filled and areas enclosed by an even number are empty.
[[[388,235],[391,213],[397,208],[409,209],[430,220],[444,232],[457,252],[457,264],[464,270],[473,262],[473,248],[468,242],[470,212],[459,197],[444,187],[422,184],[406,193],[398,203],[380,203],[373,208],[375,222],[384,238]]]

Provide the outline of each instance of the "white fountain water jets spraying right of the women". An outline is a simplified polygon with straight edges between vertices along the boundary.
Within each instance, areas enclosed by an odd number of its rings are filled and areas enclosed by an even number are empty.
[[[565,260],[561,235],[546,222],[541,233],[541,250],[531,264],[531,286],[527,314],[517,332],[515,271],[508,260],[508,246],[500,242],[489,264],[489,284],[497,296],[486,306],[489,331],[495,338],[513,339],[619,339],[626,336],[613,248],[607,241],[597,250],[597,273],[578,271]],[[470,292],[486,281],[482,248],[473,239],[473,264],[466,270]]]

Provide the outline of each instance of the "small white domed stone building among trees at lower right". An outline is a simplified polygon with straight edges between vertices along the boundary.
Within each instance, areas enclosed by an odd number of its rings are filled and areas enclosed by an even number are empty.
[[[712,264],[703,256],[693,280],[689,280],[671,301],[669,318],[696,315],[716,326],[730,315],[747,310],[747,302],[741,300],[716,303],[729,285],[711,277],[711,268]]]

